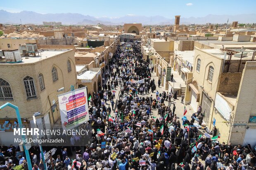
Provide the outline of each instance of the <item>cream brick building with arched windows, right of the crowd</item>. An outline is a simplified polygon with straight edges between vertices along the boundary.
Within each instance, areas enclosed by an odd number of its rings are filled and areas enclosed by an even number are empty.
[[[251,126],[253,124],[248,123],[249,117],[254,116],[253,109],[242,112],[240,107],[242,103],[247,104],[248,99],[251,98],[244,95],[245,87],[249,92],[247,95],[254,96],[256,92],[253,86],[248,85],[254,84],[254,78],[252,78],[254,67],[247,66],[255,64],[255,62],[249,62],[254,60],[255,54],[248,49],[236,49],[232,52],[231,56],[229,55],[231,51],[227,51],[225,55],[225,51],[220,49],[195,47],[194,68],[187,75],[185,105],[189,104],[194,112],[197,112],[198,105],[201,105],[204,124],[209,131],[213,129],[213,120],[216,121],[215,126],[218,130],[216,134],[221,134],[220,142],[239,144],[242,142],[241,136],[245,141],[253,142],[250,136],[246,135],[246,128],[250,129],[250,132],[254,131],[254,126]],[[247,74],[247,72],[250,73]],[[254,106],[248,102],[248,107]],[[241,122],[240,125],[243,124],[244,129],[241,130],[239,137],[235,137],[231,135],[236,129],[233,125],[239,122]]]

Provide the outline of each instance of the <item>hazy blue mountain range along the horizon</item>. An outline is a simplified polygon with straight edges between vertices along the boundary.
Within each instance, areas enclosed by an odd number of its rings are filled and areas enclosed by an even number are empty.
[[[256,14],[238,14],[238,15],[213,15],[209,14],[204,17],[180,18],[180,24],[205,24],[205,23],[229,23],[238,21],[239,23],[256,23]],[[20,21],[21,20],[21,21]],[[122,17],[94,17],[90,15],[82,15],[77,13],[61,13],[61,14],[39,14],[32,11],[21,11],[19,13],[11,13],[0,10],[0,23],[12,24],[43,24],[43,21],[62,22],[64,25],[123,25],[123,23],[142,23],[143,25],[168,25],[174,23],[174,16],[168,19],[164,16],[137,16],[128,14]]]

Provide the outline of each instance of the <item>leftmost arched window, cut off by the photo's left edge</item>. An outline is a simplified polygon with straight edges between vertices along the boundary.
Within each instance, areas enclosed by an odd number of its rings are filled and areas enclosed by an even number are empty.
[[[0,78],[0,100],[13,100],[11,86]]]

